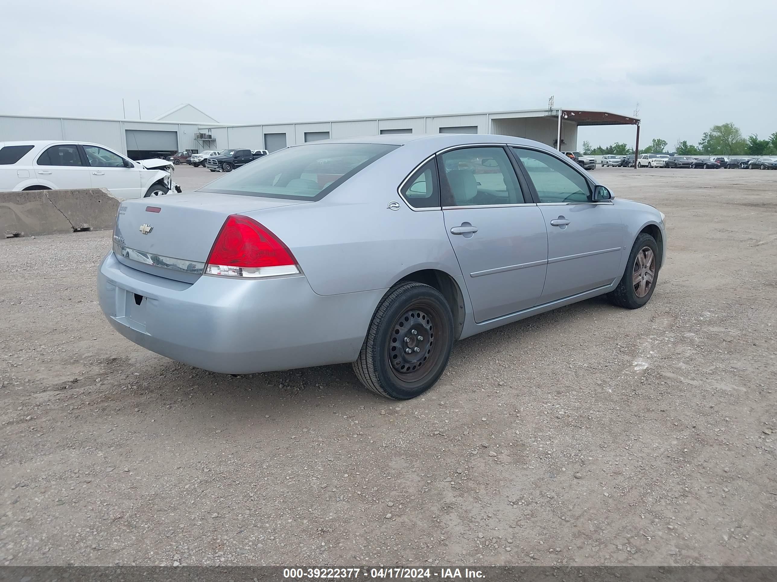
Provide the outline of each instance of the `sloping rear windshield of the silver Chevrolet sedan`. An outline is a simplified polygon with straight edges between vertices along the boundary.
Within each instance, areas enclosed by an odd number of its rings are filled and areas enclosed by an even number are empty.
[[[287,147],[218,178],[199,192],[320,200],[395,145],[317,144]]]

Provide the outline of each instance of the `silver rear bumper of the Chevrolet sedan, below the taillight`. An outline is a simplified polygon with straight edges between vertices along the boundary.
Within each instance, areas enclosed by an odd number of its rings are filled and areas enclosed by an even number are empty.
[[[321,296],[304,276],[193,284],[99,265],[100,308],[135,344],[197,368],[232,374],[353,362],[385,289]],[[142,296],[135,304],[134,294]]]

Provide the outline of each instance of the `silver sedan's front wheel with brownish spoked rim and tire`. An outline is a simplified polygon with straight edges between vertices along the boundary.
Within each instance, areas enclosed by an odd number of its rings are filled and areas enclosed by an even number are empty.
[[[626,309],[639,309],[650,301],[658,282],[659,261],[656,239],[647,233],[639,234],[621,281],[607,294],[611,303]]]

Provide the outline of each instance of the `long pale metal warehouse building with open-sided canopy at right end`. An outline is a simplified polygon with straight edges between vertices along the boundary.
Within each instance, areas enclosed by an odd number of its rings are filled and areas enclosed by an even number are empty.
[[[150,121],[0,116],[0,141],[90,141],[141,159],[228,147],[276,151],[308,141],[392,133],[493,133],[526,137],[552,147],[558,147],[560,137],[559,149],[573,151],[577,149],[577,127],[589,125],[636,125],[639,140],[639,120],[580,109],[228,125],[183,104]]]

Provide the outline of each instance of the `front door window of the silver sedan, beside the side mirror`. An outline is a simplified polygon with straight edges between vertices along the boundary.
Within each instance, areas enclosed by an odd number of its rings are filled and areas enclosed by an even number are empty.
[[[570,165],[542,151],[513,150],[534,182],[540,203],[591,202],[588,181]]]

